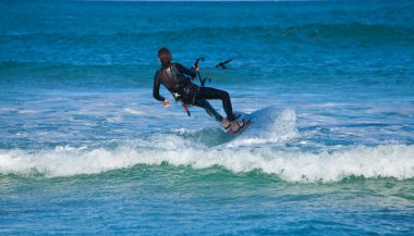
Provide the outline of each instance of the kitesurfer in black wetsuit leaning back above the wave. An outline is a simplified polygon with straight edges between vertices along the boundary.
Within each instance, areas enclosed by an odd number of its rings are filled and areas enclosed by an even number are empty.
[[[186,105],[204,108],[209,115],[221,122],[226,131],[231,128],[233,133],[238,133],[238,131],[244,127],[247,120],[235,121],[236,117],[233,114],[230,96],[227,91],[209,87],[198,87],[192,83],[192,79],[196,76],[196,72],[199,72],[199,69],[193,66],[188,70],[180,63],[172,63],[171,59],[171,52],[167,48],[161,48],[158,51],[158,60],[161,62],[161,67],[154,76],[153,96],[155,99],[162,101],[163,105],[171,104],[168,99],[159,95],[159,87],[162,84],[172,94],[175,100]],[[222,117],[210,105],[207,99],[220,99],[227,117]]]

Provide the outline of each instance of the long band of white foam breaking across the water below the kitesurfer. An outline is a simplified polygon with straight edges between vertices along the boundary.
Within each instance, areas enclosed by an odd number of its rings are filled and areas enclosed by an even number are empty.
[[[115,149],[0,150],[0,174],[71,176],[162,162],[194,169],[220,165],[233,172],[261,170],[289,182],[337,182],[348,176],[407,179],[414,177],[414,146],[361,146],[320,153],[271,147],[209,149],[171,135],[167,140]]]

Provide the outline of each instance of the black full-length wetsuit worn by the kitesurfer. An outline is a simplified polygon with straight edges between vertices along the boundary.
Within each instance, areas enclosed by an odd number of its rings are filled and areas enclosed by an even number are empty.
[[[221,122],[223,117],[206,99],[220,99],[222,101],[227,119],[230,122],[233,121],[234,115],[229,94],[216,88],[198,87],[192,83],[192,79],[195,76],[196,71],[194,67],[188,70],[180,63],[161,65],[161,69],[159,69],[154,76],[153,96],[158,101],[166,100],[166,98],[159,95],[159,87],[162,84],[172,94],[175,100],[179,100],[187,105],[204,108],[209,115],[214,116],[219,122]]]

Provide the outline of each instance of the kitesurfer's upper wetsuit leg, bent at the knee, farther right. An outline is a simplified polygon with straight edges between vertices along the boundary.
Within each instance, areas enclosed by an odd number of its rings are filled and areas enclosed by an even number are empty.
[[[199,90],[196,92],[195,96],[196,100],[199,99],[220,99],[222,101],[222,105],[224,109],[224,112],[227,114],[227,119],[232,122],[234,121],[234,114],[233,114],[233,108],[231,107],[231,100],[229,92],[216,89],[216,88],[209,88],[209,87],[199,87]]]

